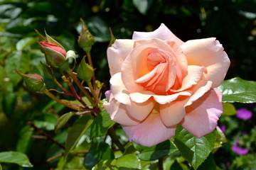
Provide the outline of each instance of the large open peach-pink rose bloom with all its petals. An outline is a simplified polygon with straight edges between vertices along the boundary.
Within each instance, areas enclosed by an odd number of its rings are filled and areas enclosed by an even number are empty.
[[[230,60],[215,38],[178,39],[163,23],[134,32],[107,49],[111,90],[104,105],[129,141],[151,147],[175,135],[176,125],[197,137],[212,132],[223,112]]]

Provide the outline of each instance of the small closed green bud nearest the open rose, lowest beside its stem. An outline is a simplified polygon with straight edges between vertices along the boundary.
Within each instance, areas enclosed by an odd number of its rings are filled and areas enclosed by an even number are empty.
[[[85,62],[85,57],[83,57],[79,67],[78,67],[78,77],[84,81],[90,81],[94,75],[94,70],[89,64]]]

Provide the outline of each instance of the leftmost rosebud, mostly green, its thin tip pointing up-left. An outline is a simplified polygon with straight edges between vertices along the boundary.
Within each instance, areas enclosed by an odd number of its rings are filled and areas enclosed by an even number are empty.
[[[22,74],[18,72],[16,69],[15,71],[21,75],[24,79],[26,87],[29,91],[33,92],[43,92],[46,90],[46,84],[43,81],[43,77],[39,74]]]

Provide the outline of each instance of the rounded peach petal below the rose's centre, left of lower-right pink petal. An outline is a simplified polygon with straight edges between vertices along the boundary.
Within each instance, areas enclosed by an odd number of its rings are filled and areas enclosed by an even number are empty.
[[[182,101],[173,101],[164,105],[160,105],[160,118],[167,127],[177,125],[181,122],[186,114],[185,104],[188,99]]]

